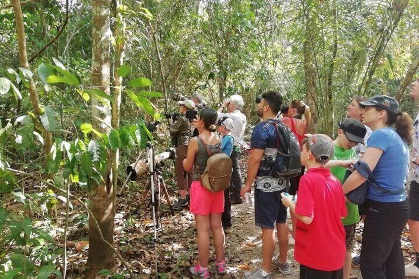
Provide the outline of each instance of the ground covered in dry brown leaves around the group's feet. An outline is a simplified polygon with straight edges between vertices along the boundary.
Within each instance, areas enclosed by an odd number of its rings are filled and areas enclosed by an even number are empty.
[[[246,158],[241,160],[246,169]],[[246,171],[243,172],[246,176]],[[168,177],[168,191],[172,202],[175,201],[175,183],[173,172],[165,173]],[[145,185],[146,181],[143,181]],[[136,185],[135,183],[132,185]],[[119,198],[118,210],[115,220],[115,246],[122,252],[123,257],[130,263],[132,271],[137,278],[155,278],[155,245],[153,241],[153,226],[149,196],[146,196],[144,188],[133,189],[133,186],[125,191]],[[135,191],[134,191],[135,190]],[[143,202],[145,200],[145,202]],[[169,216],[168,205],[162,199],[162,224],[163,231],[158,232],[157,262],[159,278],[192,278],[189,268],[195,265],[198,259],[196,238],[196,224],[193,214],[188,208],[176,211],[174,216]],[[218,276],[215,272],[215,255],[213,247],[210,250],[210,274],[211,278],[242,278],[244,272],[253,271],[261,265],[262,241],[261,230],[254,226],[254,209],[246,204],[232,206],[233,227],[226,232],[226,251],[228,273]],[[353,255],[359,254],[361,247],[360,223],[356,233],[356,243]],[[77,236],[78,235],[78,236]],[[76,233],[71,241],[69,259],[72,272],[68,278],[82,277],[85,261],[87,259],[87,243]],[[79,238],[79,240],[77,240]],[[407,229],[402,236],[403,254],[405,262],[412,262],[414,251],[412,249],[410,234]],[[297,279],[299,277],[299,265],[293,258],[293,246],[289,247],[288,258],[292,265],[291,275],[282,275],[278,269],[273,268],[273,278]],[[276,245],[275,255],[278,254]],[[122,274],[124,266],[119,264],[119,273]],[[359,268],[352,268],[352,279],[361,279]]]

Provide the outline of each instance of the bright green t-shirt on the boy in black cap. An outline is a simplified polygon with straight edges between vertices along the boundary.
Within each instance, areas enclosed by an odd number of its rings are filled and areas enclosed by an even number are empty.
[[[332,159],[335,160],[349,160],[356,158],[356,153],[353,148],[344,150],[343,148],[335,145],[335,155]],[[346,168],[342,166],[335,166],[331,168],[330,172],[339,179],[340,183],[343,184],[343,178],[345,177]],[[343,226],[356,224],[359,222],[359,211],[358,205],[351,202],[346,202],[346,208],[348,209],[348,215],[342,219]]]

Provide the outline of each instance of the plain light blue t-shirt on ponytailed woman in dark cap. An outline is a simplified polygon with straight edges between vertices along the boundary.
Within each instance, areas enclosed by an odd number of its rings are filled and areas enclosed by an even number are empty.
[[[391,191],[405,188],[409,171],[409,147],[397,131],[391,127],[373,131],[367,142],[368,147],[376,147],[383,151],[373,170],[377,184]],[[382,202],[403,201],[406,199],[406,191],[400,195],[393,195],[369,187],[367,199]]]

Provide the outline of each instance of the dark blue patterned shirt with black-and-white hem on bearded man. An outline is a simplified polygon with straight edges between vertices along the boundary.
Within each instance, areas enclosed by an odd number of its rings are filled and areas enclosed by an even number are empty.
[[[273,162],[278,150],[277,134],[272,120],[265,120],[254,126],[251,133],[251,148],[264,150],[256,174],[255,188],[264,192],[284,189],[288,185],[288,180],[272,176]]]

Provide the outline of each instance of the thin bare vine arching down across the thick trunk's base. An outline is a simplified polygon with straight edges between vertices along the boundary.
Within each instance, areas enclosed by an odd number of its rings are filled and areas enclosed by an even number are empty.
[[[57,191],[61,192],[62,194],[67,195],[67,191],[66,191],[66,190],[63,190],[63,189],[61,189],[61,188],[58,188],[58,187],[57,187],[57,186],[55,186],[54,184],[52,184],[52,183],[50,183],[50,182],[48,182],[48,181],[46,181],[46,180],[43,180],[42,178],[40,178],[40,177],[38,177],[38,176],[36,176],[36,175],[30,174],[30,173],[27,173],[27,172],[23,172],[23,171],[21,171],[21,170],[17,170],[17,169],[12,169],[12,168],[7,168],[7,170],[8,170],[8,171],[15,172],[15,173],[22,174],[22,175],[25,175],[25,176],[29,176],[29,177],[35,178],[35,179],[37,179],[38,181],[41,181],[41,182],[45,183],[48,187],[51,187],[51,188],[53,188],[54,190],[57,190]],[[92,218],[92,220],[93,220],[93,222],[94,222],[94,224],[95,224],[95,227],[96,227],[97,231],[99,232],[99,236],[100,236],[101,240],[102,240],[104,243],[106,243],[106,245],[108,245],[108,246],[112,249],[112,251],[113,251],[113,252],[117,255],[118,259],[120,259],[120,261],[122,262],[122,264],[125,266],[126,270],[128,271],[129,276],[130,276],[131,278],[135,278],[135,277],[134,277],[134,274],[132,273],[131,269],[129,268],[129,265],[128,265],[128,263],[126,262],[126,260],[124,260],[124,258],[121,256],[121,254],[118,252],[118,250],[114,247],[114,245],[112,245],[111,243],[109,243],[108,241],[106,241],[106,239],[103,237],[102,230],[101,230],[101,229],[100,229],[100,227],[99,227],[99,223],[97,223],[97,220],[96,220],[96,218],[94,217],[93,212],[91,212],[91,210],[89,209],[89,207],[88,207],[88,206],[84,203],[84,201],[83,201],[83,200],[79,199],[78,197],[76,197],[76,196],[74,196],[74,195],[72,195],[72,194],[70,194],[70,193],[68,193],[68,196],[69,196],[69,197],[71,197],[71,198],[76,199],[78,202],[80,202],[80,204],[82,204],[82,206],[84,207],[84,209],[86,209],[86,210],[87,210],[87,212],[89,213],[89,217],[91,217],[91,218]]]

